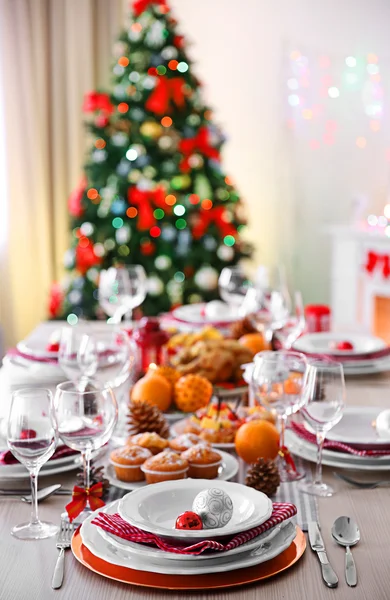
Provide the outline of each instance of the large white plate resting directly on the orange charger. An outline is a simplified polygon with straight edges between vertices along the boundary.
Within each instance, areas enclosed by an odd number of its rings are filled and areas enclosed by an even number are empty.
[[[135,569],[137,571],[149,571],[152,573],[162,573],[165,575],[202,575],[206,573],[223,573],[229,570],[243,569],[258,565],[276,556],[279,556],[293,542],[296,536],[296,526],[294,523],[287,523],[279,533],[263,547],[255,548],[241,556],[231,556],[216,562],[214,559],[196,562],[194,566],[188,566],[185,561],[167,560],[166,563],[154,562],[150,558],[146,561],[138,559],[135,554],[130,554],[124,550],[108,544],[107,541],[99,535],[96,525],[91,521],[97,516],[99,510],[92,513],[82,524],[80,529],[81,539],[84,546],[88,548],[96,557],[105,560],[113,565]],[[77,558],[77,556],[76,556]]]

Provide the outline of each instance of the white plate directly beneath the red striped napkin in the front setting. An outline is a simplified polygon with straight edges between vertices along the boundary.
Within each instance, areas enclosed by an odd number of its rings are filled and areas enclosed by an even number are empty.
[[[105,506],[101,509],[101,512],[113,515],[118,512],[119,500]],[[286,525],[291,521],[288,519],[276,525],[272,529],[265,531],[261,535],[257,536],[253,540],[246,542],[245,544],[241,544],[241,546],[237,546],[237,548],[233,548],[232,550],[228,550],[227,552],[214,552],[213,554],[198,554],[196,556],[191,554],[175,554],[173,552],[165,552],[164,550],[160,550],[157,547],[149,546],[145,544],[137,544],[135,542],[129,542],[128,540],[124,540],[120,537],[117,537],[113,533],[109,533],[105,531],[101,527],[97,527],[99,534],[106,540],[107,543],[112,544],[116,548],[123,550],[125,552],[129,552],[130,555],[134,555],[136,553],[138,556],[142,556],[145,559],[151,559],[154,562],[166,562],[167,560],[175,560],[175,561],[185,561],[185,562],[199,562],[205,560],[221,560],[225,558],[229,558],[230,556],[234,556],[237,554],[248,553],[255,548],[259,548],[261,545],[269,544],[271,540],[283,529]]]

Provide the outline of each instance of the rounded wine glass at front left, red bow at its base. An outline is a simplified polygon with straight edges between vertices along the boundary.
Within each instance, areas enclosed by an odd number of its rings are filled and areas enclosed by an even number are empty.
[[[65,381],[57,385],[54,408],[61,440],[81,452],[85,466],[84,485],[89,488],[92,452],[108,442],[118,420],[115,395],[110,387],[93,380],[88,380],[84,389],[72,381]],[[79,520],[88,512],[84,511]]]

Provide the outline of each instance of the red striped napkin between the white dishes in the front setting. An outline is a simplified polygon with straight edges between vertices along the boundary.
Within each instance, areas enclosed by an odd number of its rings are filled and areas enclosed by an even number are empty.
[[[104,531],[112,533],[123,540],[129,542],[137,542],[141,544],[152,544],[157,546],[160,550],[165,552],[174,552],[176,554],[201,554],[205,550],[217,550],[219,552],[227,552],[233,550],[245,542],[253,540],[253,538],[259,536],[261,533],[268,531],[272,527],[279,525],[283,521],[290,519],[297,514],[297,507],[294,504],[287,502],[274,502],[273,511],[268,521],[265,521],[262,525],[244,531],[234,536],[228,543],[222,544],[215,540],[201,540],[196,544],[186,547],[177,547],[166,540],[160,538],[153,533],[143,531],[137,527],[133,527],[127,521],[124,521],[122,517],[117,513],[115,515],[107,515],[106,513],[99,513],[99,515],[92,521],[94,525],[101,527]]]

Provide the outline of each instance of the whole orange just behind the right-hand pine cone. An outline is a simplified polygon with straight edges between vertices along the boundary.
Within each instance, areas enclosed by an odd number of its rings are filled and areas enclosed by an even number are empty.
[[[246,463],[258,458],[273,460],[279,451],[279,432],[269,421],[249,421],[236,433],[236,452]]]

